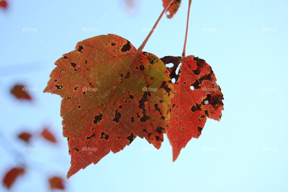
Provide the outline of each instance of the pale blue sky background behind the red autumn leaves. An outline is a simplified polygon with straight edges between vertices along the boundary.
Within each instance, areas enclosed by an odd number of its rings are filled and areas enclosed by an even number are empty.
[[[54,174],[64,176],[66,191],[288,190],[286,0],[193,0],[187,55],[213,68],[225,98],[221,121],[209,119],[201,137],[192,139],[174,163],[166,135],[160,150],[137,138],[68,181],[61,98],[42,93],[54,62],[77,42],[101,34],[115,33],[138,48],[162,2],[137,1],[130,10],[125,0],[9,2],[10,10],[0,11],[0,129],[12,145],[0,135],[0,172],[24,161],[29,168],[13,192],[48,191],[46,177]],[[183,0],[173,19],[163,17],[144,51],[158,57],[182,54],[187,4]],[[16,82],[38,89],[31,93],[33,103],[11,97]],[[15,136],[25,129],[40,134],[44,125],[52,127],[58,145],[36,136],[27,145]]]

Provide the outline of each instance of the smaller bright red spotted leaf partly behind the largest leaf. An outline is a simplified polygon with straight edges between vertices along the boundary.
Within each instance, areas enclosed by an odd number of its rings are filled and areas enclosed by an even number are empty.
[[[173,148],[173,161],[191,138],[199,138],[206,117],[220,121],[223,108],[223,94],[216,84],[216,77],[205,60],[185,57],[179,73],[176,68],[181,57],[161,58],[164,64],[173,63],[167,68],[170,78],[175,78],[174,97],[171,99],[171,117],[167,136]]]

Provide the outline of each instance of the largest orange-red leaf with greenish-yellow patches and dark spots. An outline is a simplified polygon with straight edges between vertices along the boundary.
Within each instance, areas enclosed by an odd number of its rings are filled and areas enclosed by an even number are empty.
[[[108,34],[78,42],[56,61],[44,92],[63,98],[63,135],[71,155],[67,178],[123,150],[136,136],[160,148],[173,86],[158,57],[136,51],[128,40]]]

